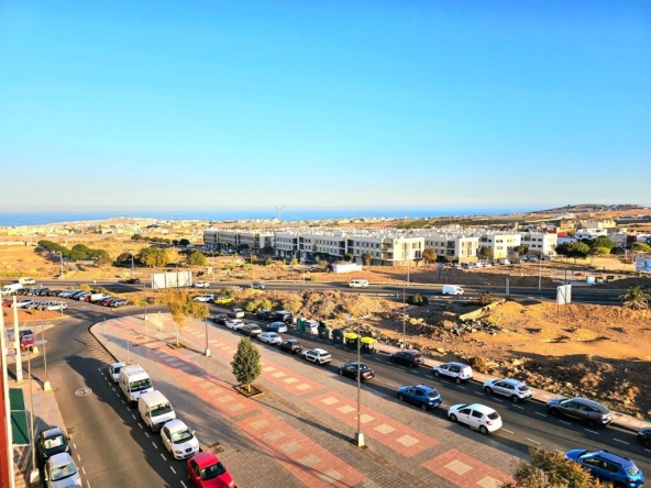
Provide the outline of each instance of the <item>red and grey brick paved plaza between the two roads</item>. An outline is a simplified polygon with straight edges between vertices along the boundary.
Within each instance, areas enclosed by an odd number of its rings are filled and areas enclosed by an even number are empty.
[[[202,355],[205,324],[188,320],[174,342],[166,315],[145,329],[140,318],[97,324],[93,334],[120,359],[140,363],[244,487],[481,487],[509,479],[516,453],[481,434],[363,390],[362,431],[367,448],[350,441],[356,429],[355,382],[261,344],[265,395],[236,393],[230,362],[241,335],[209,324],[212,357]],[[158,325],[158,326],[153,326]]]

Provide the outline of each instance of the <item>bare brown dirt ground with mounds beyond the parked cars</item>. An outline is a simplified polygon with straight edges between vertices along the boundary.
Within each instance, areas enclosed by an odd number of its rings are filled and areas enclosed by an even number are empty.
[[[111,256],[124,251],[137,253],[142,245],[124,239],[93,236],[71,239],[66,244],[82,243],[89,247],[104,248]],[[173,252],[175,253],[175,252]],[[173,254],[170,253],[170,254]],[[174,254],[173,262],[180,260]],[[648,277],[638,277],[631,266],[624,266],[616,258],[597,258],[594,263],[544,262],[476,270],[445,270],[426,267],[368,267],[360,273],[333,275],[310,271],[300,267],[275,264],[273,266],[246,266],[241,257],[209,258],[209,268],[195,268],[211,281],[241,280],[296,280],[306,284],[347,282],[365,278],[372,282],[457,285],[505,285],[550,287],[565,278],[575,285],[585,284],[586,276],[606,278],[610,282],[596,287],[619,288],[636,284],[644,289],[651,286]],[[20,276],[52,279],[60,273],[58,258],[38,255],[33,247],[0,247],[0,281],[9,282]],[[146,279],[151,269],[136,268],[136,276]],[[131,268],[66,266],[66,280],[125,279]],[[213,278],[214,276],[214,278]],[[302,286],[298,289],[304,288]],[[309,287],[307,287],[309,289]],[[409,287],[406,286],[409,297]],[[252,295],[253,293],[253,295]],[[238,293],[239,304],[257,299],[260,291],[243,290]],[[434,291],[430,297],[434,296]],[[267,291],[264,297],[278,304],[298,301],[299,314],[322,320],[331,328],[345,328],[344,313],[365,317],[368,333],[379,341],[399,344],[402,324],[407,346],[419,348],[442,361],[462,358],[477,369],[496,376],[514,376],[532,386],[542,387],[565,396],[594,397],[617,410],[651,419],[651,392],[648,378],[651,374],[651,312],[630,311],[619,306],[588,306],[574,303],[558,309],[555,304],[538,301],[507,301],[485,312],[479,319],[463,323],[459,315],[479,306],[472,300],[459,302],[440,297],[426,307],[408,307],[402,315],[402,297],[382,298],[327,291],[282,293]],[[142,298],[134,293],[133,297]],[[7,314],[5,321],[11,321]],[[27,314],[21,312],[20,322],[37,325],[40,320],[58,317],[58,312]],[[30,322],[26,322],[30,321]]]

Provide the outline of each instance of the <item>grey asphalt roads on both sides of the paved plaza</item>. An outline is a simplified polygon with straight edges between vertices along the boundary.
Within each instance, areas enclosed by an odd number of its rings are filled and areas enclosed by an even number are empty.
[[[139,426],[137,411],[129,408],[108,379],[107,366],[112,358],[88,332],[90,324],[104,317],[133,314],[140,310],[115,310],[66,301],[70,306],[67,310],[70,318],[46,332],[47,376],[56,388],[85,479],[92,481],[91,487],[100,488],[184,486],[184,462],[169,459],[157,436]],[[213,312],[223,310],[214,306],[210,308]],[[156,310],[150,309],[152,313]],[[220,333],[239,335],[225,326],[214,326],[222,331]],[[339,364],[356,358],[354,351],[318,337],[300,335],[300,340],[305,347],[321,346],[331,352],[333,363],[324,368],[324,379],[336,374]],[[261,344],[261,348],[271,346]],[[296,361],[297,367],[317,367],[298,357]],[[578,421],[549,415],[541,403],[514,404],[506,398],[486,396],[477,384],[456,385],[434,378],[430,368],[394,365],[384,354],[365,356],[364,361],[377,375],[365,382],[364,388],[387,401],[398,401],[396,389],[400,386],[427,382],[438,388],[443,398],[443,404],[429,413],[431,415],[445,419],[448,407],[454,403],[482,402],[495,408],[503,417],[504,428],[485,439],[494,446],[509,446],[522,453],[528,446],[547,446],[563,452],[577,447],[608,448],[631,457],[642,472],[651,473],[651,451],[637,443],[635,433],[618,428],[591,430]],[[36,358],[32,367],[35,376],[43,379],[43,356]],[[419,411],[407,403],[405,408]]]

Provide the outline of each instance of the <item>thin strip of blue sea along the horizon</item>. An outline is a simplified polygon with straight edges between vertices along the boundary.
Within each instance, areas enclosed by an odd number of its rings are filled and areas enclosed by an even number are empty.
[[[92,211],[92,212],[0,212],[0,226],[46,225],[63,222],[98,221],[117,218],[157,219],[167,221],[199,220],[205,222],[229,222],[240,220],[273,220],[287,222],[319,221],[333,219],[424,219],[432,217],[501,215],[530,211],[526,209],[243,209],[243,210],[183,210],[183,211]]]

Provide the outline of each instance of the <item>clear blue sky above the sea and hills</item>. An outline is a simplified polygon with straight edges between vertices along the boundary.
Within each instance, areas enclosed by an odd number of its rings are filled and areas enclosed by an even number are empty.
[[[650,1],[0,2],[0,211],[651,204]]]

